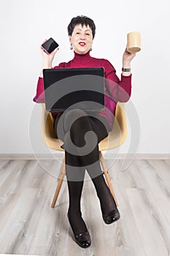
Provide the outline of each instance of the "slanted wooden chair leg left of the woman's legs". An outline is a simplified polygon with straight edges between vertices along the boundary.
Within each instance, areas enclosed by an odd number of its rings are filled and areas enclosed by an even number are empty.
[[[58,198],[58,194],[61,190],[61,186],[63,184],[63,178],[66,174],[66,170],[65,170],[65,157],[63,157],[63,162],[61,164],[61,170],[60,170],[60,173],[58,174],[58,184],[57,184],[57,187],[55,189],[55,194],[54,194],[54,197],[53,197],[53,202],[51,204],[51,208],[54,208],[55,207],[55,203],[57,201],[57,198]]]

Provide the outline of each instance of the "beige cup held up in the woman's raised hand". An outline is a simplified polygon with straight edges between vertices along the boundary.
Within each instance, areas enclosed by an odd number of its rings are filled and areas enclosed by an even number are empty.
[[[141,50],[141,35],[133,31],[127,34],[127,50],[129,53],[137,53]]]

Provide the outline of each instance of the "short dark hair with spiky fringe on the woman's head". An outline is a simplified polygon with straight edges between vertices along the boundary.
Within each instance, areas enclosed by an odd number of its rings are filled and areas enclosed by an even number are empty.
[[[96,31],[96,26],[95,26],[95,23],[93,20],[91,20],[90,18],[84,16],[84,15],[81,15],[81,16],[77,16],[75,18],[72,18],[71,22],[69,23],[69,26],[68,26],[68,34],[69,36],[72,36],[72,32],[74,30],[74,27],[81,24],[82,26],[89,26],[91,31],[92,31],[92,34],[93,34],[93,38],[95,36],[95,31]]]

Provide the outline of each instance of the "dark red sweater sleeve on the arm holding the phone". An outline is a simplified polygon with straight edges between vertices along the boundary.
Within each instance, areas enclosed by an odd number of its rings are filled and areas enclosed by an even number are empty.
[[[64,68],[65,62],[60,63],[58,66],[53,67],[54,69]],[[38,79],[36,85],[36,96],[33,98],[33,101],[36,103],[45,103],[45,91],[44,91],[44,80],[43,78]]]

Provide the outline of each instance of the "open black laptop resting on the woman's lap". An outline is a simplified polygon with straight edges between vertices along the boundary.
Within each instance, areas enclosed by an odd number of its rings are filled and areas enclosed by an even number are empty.
[[[48,112],[104,109],[104,68],[43,69]]]

